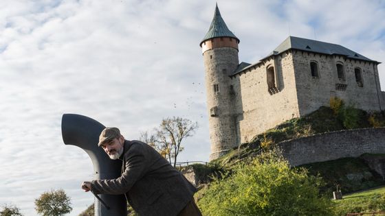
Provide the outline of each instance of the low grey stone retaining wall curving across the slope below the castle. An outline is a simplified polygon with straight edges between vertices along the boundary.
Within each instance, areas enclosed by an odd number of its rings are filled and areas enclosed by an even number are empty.
[[[297,166],[362,154],[385,154],[385,128],[342,130],[278,144],[290,165]]]

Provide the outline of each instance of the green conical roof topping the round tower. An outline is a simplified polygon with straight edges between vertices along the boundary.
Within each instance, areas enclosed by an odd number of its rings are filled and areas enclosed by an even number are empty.
[[[214,18],[212,18],[210,29],[208,29],[208,32],[207,32],[206,36],[204,36],[200,45],[205,40],[208,40],[211,38],[219,38],[219,37],[235,38],[239,42],[239,39],[236,38],[236,36],[234,34],[232,34],[232,32],[228,29],[225,21],[223,21],[222,16],[221,16],[221,12],[219,12],[218,5],[215,5]]]

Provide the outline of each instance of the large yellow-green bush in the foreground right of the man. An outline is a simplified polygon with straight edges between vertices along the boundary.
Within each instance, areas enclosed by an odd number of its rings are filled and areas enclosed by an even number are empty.
[[[198,204],[203,215],[333,215],[322,197],[320,178],[291,168],[277,152],[267,152],[217,178]]]

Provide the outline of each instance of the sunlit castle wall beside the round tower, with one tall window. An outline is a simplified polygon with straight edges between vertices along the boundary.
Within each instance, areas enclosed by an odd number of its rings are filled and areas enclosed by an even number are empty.
[[[277,93],[267,85],[267,68],[274,67]],[[237,143],[252,140],[256,134],[298,117],[296,81],[292,53],[274,56],[232,77]]]

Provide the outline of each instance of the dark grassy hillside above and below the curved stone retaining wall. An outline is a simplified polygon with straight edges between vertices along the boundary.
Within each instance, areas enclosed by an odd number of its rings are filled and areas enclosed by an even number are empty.
[[[252,142],[243,143],[239,148],[233,149],[228,154],[213,160],[211,163],[217,167],[222,166],[232,169],[232,166],[240,161],[250,160],[261,151],[274,148],[281,141],[322,132],[353,128],[373,128],[385,125],[384,112],[368,113],[351,106],[344,106],[343,101],[339,101],[339,103],[339,106],[332,106],[332,108],[320,107],[303,118],[285,121],[275,128],[256,135]],[[385,155],[372,156],[366,154],[365,157],[384,158],[385,160]],[[213,169],[212,167],[210,169]],[[326,182],[326,185],[322,187],[322,191],[329,195],[331,195],[331,191],[335,190],[337,184],[342,187],[343,193],[369,189],[384,184],[382,176],[371,169],[363,157],[341,158],[322,163],[302,165],[300,167],[306,168],[311,175],[320,175]],[[204,170],[202,167],[200,169]],[[198,175],[201,175],[199,172],[198,170]],[[203,182],[207,182],[207,180]]]

